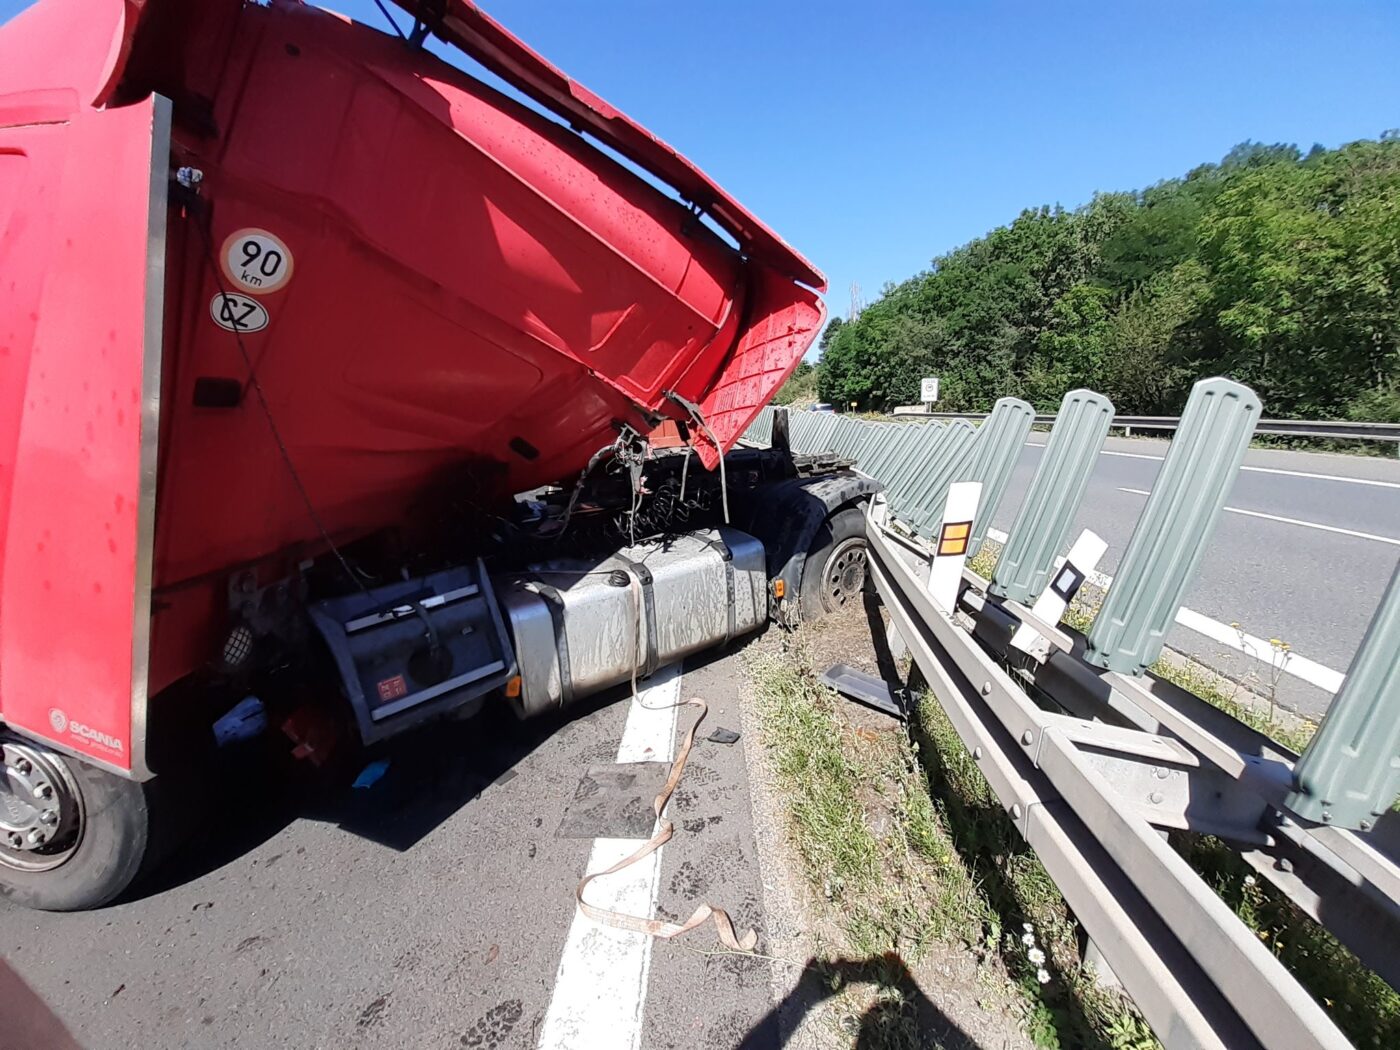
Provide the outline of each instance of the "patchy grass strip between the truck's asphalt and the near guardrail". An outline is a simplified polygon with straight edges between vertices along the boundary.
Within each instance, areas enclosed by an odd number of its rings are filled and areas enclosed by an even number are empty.
[[[841,1005],[847,1019],[864,1011],[858,1046],[928,1044],[907,966],[935,942],[972,949],[986,994],[1012,1004],[1040,1046],[1156,1046],[1079,966],[1063,899],[938,704],[921,703],[911,738],[851,725],[809,664],[798,648],[759,655],[750,671],[788,836],[832,953],[869,960],[864,1000]],[[850,973],[833,966],[830,980]]]

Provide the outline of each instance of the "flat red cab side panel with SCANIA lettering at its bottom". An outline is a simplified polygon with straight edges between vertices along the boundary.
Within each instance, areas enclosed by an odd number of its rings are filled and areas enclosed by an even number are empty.
[[[81,15],[43,6],[0,39],[0,717],[140,771],[157,101],[84,104],[123,29],[120,17],[104,28]],[[71,48],[15,46],[43,41]],[[77,63],[66,90],[55,55]],[[164,224],[164,197],[158,207]]]

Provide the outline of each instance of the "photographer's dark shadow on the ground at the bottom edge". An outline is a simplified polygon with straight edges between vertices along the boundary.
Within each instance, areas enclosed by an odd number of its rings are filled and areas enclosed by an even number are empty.
[[[848,984],[875,984],[875,1002],[855,1021],[855,1050],[946,1047],[977,1050],[977,1043],[930,1000],[896,952],[869,959],[808,959],[792,991],[770,1009],[736,1050],[771,1050],[785,1043],[823,1000]]]

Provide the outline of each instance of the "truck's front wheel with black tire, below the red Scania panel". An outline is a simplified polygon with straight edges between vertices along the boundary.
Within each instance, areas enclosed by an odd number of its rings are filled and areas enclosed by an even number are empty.
[[[0,748],[0,895],[43,911],[111,902],[147,858],[150,785],[18,736]]]

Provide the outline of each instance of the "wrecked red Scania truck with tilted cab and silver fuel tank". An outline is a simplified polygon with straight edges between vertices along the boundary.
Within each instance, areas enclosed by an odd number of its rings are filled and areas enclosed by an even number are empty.
[[[0,27],[17,900],[120,893],[241,697],[372,745],[860,587],[822,571],[872,483],[736,447],[822,274],[473,4],[399,6],[406,41],[293,0]]]

